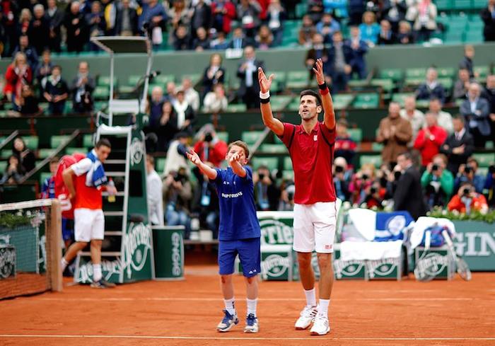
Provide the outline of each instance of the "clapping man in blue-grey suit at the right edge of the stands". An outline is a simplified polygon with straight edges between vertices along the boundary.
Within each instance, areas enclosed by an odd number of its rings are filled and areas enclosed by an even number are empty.
[[[467,100],[460,105],[460,114],[465,117],[466,128],[474,137],[474,146],[484,148],[491,133],[488,120],[490,108],[488,101],[479,97],[480,94],[479,84],[471,83],[467,91]]]

